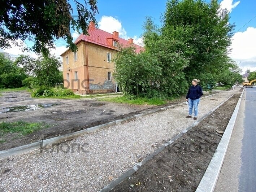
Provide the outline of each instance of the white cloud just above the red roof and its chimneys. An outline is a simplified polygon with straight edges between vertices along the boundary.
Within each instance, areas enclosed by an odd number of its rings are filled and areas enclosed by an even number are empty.
[[[109,33],[113,33],[114,31],[119,32],[119,36],[123,39],[130,39],[130,36],[127,36],[127,32],[122,27],[122,22],[118,19],[111,16],[102,16],[100,21],[98,22],[99,29],[103,31],[107,31]],[[143,39],[138,38],[137,35],[133,37],[133,42],[138,45],[143,45]]]

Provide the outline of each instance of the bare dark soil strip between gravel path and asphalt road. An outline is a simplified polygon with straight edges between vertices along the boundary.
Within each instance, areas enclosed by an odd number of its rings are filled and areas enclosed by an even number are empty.
[[[112,191],[195,191],[239,97],[235,94]]]

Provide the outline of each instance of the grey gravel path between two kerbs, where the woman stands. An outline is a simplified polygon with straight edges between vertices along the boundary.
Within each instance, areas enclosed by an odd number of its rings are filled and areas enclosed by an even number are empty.
[[[226,100],[199,103],[198,118]],[[187,105],[104,128],[45,150],[0,159],[0,191],[99,191],[195,122]]]

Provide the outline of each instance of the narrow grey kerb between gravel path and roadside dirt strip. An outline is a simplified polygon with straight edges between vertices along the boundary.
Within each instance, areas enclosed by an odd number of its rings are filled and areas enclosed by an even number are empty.
[[[218,94],[218,93],[216,93]],[[215,94],[214,94],[215,95]],[[233,94],[234,95],[234,94]],[[230,97],[232,97],[233,95],[231,95]],[[212,96],[212,95],[209,95]],[[208,97],[208,96],[206,96]],[[138,169],[143,166],[144,164],[146,164],[149,160],[151,160],[154,156],[156,156],[157,154],[159,154],[162,150],[164,150],[168,145],[171,145],[172,143],[174,143],[175,140],[179,139],[182,135],[184,135],[188,130],[190,130],[191,128],[195,127],[196,125],[198,125],[201,121],[203,121],[206,117],[208,117],[210,114],[212,114],[216,109],[218,109],[222,104],[224,104],[227,100],[230,99],[227,98],[225,101],[223,101],[220,105],[218,105],[216,108],[212,109],[210,112],[208,112],[207,114],[205,114],[202,118],[198,119],[198,121],[194,122],[191,126],[187,127],[185,130],[183,130],[180,134],[176,135],[173,139],[171,139],[170,141],[168,141],[166,144],[164,144],[162,147],[160,147],[159,149],[157,149],[155,152],[153,152],[151,155],[149,155],[148,157],[146,157],[144,160],[142,160],[141,162],[139,162],[138,164],[136,164],[135,166],[133,166],[131,169],[129,169],[128,171],[126,171],[124,174],[122,174],[120,177],[118,177],[116,180],[114,180],[113,182],[111,182],[110,184],[108,184],[107,186],[105,186],[103,189],[101,189],[99,192],[108,192],[111,191],[114,187],[116,187],[118,184],[122,183],[126,178],[128,178],[129,176],[131,176],[132,174],[134,174],[136,171],[138,171]],[[204,97],[203,97],[204,98]],[[201,99],[203,99],[201,98]],[[185,102],[184,102],[185,103]],[[180,105],[180,104],[176,104],[176,105]]]

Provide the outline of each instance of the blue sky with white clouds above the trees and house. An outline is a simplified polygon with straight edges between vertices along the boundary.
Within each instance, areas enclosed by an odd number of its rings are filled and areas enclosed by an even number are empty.
[[[205,1],[209,3],[210,0]],[[79,2],[82,3],[83,0]],[[230,23],[236,25],[229,56],[238,62],[243,70],[242,74],[247,69],[256,71],[256,0],[219,0],[219,3],[221,8],[229,10]],[[75,10],[75,5],[72,6]],[[110,33],[117,31],[121,38],[133,38],[134,43],[142,44],[141,35],[145,17],[151,16],[155,24],[161,27],[165,6],[166,0],[97,0],[99,14],[96,14],[95,18],[99,29]],[[72,32],[74,40],[78,35],[77,32]],[[32,42],[25,42],[25,46],[31,45]],[[56,49],[51,53],[59,56],[65,50],[66,42],[59,39],[56,41]],[[9,52],[14,57],[23,54],[18,47],[1,51]],[[37,57],[32,52],[27,54]]]

